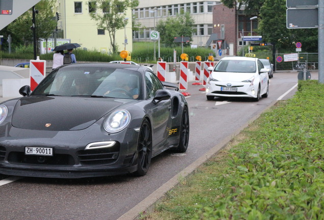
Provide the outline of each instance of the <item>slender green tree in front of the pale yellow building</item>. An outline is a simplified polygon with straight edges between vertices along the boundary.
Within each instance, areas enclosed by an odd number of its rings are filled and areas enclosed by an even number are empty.
[[[109,32],[110,44],[113,48],[113,53],[116,53],[118,48],[116,45],[116,33],[124,28],[128,20],[125,20],[126,10],[136,8],[139,5],[138,0],[97,0],[93,6],[95,10],[100,10],[96,13],[90,13],[91,19],[97,22],[99,29],[104,29]],[[131,16],[131,15],[129,15]]]

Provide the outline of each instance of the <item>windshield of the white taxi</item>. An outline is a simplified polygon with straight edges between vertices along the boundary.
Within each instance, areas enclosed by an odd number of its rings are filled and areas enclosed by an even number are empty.
[[[221,60],[213,71],[251,73],[256,72],[256,65],[255,61]]]

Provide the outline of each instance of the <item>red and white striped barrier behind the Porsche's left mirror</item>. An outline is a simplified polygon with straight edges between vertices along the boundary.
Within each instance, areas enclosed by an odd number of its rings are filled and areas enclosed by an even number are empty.
[[[38,57],[37,57],[38,58]],[[30,80],[31,91],[38,86],[46,75],[46,61],[44,60],[31,60],[30,61]]]

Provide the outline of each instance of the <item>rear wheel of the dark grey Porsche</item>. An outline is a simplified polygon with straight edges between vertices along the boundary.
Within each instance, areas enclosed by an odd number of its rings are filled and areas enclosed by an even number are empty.
[[[184,153],[187,150],[189,142],[189,127],[188,108],[184,107],[180,125],[180,140],[178,147],[174,149],[175,152]]]

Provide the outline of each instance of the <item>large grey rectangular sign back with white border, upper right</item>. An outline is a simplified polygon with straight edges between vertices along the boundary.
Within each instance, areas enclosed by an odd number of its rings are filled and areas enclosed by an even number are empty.
[[[305,29],[317,28],[318,26],[318,10],[293,8],[287,9],[287,29]]]

